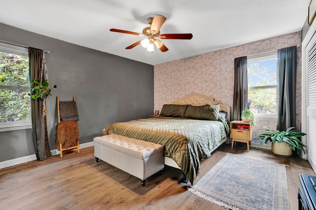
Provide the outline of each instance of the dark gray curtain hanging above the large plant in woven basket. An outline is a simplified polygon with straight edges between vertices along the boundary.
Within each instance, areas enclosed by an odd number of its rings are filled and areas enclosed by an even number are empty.
[[[296,46],[277,50],[278,108],[276,129],[296,128]]]

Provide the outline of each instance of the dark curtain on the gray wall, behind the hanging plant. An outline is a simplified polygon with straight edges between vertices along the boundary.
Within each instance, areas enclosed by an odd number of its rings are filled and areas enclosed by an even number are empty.
[[[29,47],[29,69],[31,83],[40,79],[43,51]],[[42,118],[43,99],[31,99],[32,132],[35,154],[38,160],[50,156],[46,116]]]

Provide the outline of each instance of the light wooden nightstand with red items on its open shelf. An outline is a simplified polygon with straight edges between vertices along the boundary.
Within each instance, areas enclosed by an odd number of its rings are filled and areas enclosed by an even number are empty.
[[[249,151],[249,146],[251,149],[251,139],[252,139],[252,125],[251,122],[244,121],[231,121],[231,138],[232,141],[232,149],[234,147],[234,143],[243,142],[247,144],[247,151]]]

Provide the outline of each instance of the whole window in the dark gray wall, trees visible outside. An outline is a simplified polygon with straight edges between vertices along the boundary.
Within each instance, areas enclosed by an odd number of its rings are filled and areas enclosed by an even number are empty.
[[[31,128],[28,49],[0,43],[0,131]]]

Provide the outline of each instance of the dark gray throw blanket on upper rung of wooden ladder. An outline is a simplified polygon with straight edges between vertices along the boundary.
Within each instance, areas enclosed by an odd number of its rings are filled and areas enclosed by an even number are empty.
[[[59,111],[60,111],[61,121],[78,121],[79,120],[76,101],[60,101]]]

